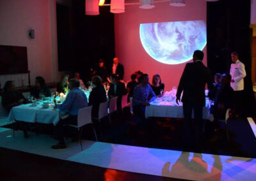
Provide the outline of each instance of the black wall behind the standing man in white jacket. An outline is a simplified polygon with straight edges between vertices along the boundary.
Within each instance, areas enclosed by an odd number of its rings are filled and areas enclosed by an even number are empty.
[[[229,73],[231,52],[239,54],[244,63],[244,87],[248,114],[255,109],[252,91],[252,30],[250,0],[220,0],[207,3],[207,64],[212,73]]]

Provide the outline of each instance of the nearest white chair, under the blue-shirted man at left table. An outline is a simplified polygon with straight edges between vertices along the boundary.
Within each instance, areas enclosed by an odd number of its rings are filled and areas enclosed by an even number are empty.
[[[86,108],[79,109],[78,115],[77,115],[77,125],[67,124],[67,126],[77,128],[78,135],[79,135],[79,140],[80,140],[80,145],[81,145],[82,150],[83,150],[83,145],[82,145],[82,140],[81,140],[81,127],[83,127],[86,124],[92,124],[92,126],[93,126],[92,106],[88,106]],[[93,126],[93,132],[94,132],[96,141],[98,141],[97,134],[95,132],[94,126]]]

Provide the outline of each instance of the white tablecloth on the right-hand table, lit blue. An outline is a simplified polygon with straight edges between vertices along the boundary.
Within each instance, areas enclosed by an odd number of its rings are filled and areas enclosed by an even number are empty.
[[[208,100],[207,100],[208,101]],[[206,103],[209,105],[209,103]],[[207,119],[210,114],[209,106],[204,107],[203,119]],[[150,103],[150,106],[146,106],[145,117],[173,117],[173,118],[183,118],[183,108],[182,105],[177,105],[176,103]],[[194,115],[193,115],[194,117]]]

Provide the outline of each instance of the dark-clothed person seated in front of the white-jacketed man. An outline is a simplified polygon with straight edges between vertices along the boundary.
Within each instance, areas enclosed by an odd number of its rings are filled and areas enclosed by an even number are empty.
[[[214,98],[214,110],[212,111],[214,119],[224,119],[228,108],[232,108],[234,91],[230,86],[231,76],[222,75],[220,88],[216,91]]]

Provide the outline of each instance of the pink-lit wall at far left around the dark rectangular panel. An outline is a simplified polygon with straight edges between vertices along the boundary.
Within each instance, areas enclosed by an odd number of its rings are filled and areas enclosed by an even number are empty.
[[[51,0],[0,1],[0,45],[28,48],[31,83],[35,82],[36,76],[43,76],[46,82],[53,82],[51,3]],[[35,29],[35,39],[28,36],[31,28]],[[1,76],[1,84],[3,86],[6,80],[11,79],[20,86],[21,76],[24,76],[27,84],[27,75]]]

